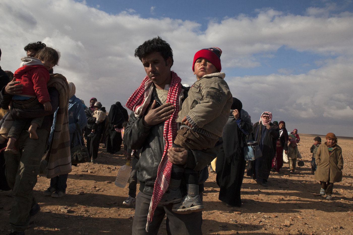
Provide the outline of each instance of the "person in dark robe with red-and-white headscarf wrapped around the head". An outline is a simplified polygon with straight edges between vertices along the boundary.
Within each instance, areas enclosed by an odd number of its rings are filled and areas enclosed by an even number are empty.
[[[280,137],[278,127],[271,123],[272,113],[263,112],[260,121],[254,124],[254,139],[259,143],[262,157],[249,161],[247,166],[247,176],[252,176],[264,187],[267,187],[267,179],[270,175],[272,159],[276,151],[276,142]]]

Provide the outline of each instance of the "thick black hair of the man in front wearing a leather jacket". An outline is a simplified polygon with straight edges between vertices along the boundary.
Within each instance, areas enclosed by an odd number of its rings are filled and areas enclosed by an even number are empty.
[[[152,52],[160,52],[166,63],[169,57],[172,58],[172,65],[170,67],[173,66],[173,50],[170,48],[170,45],[160,36],[147,40],[138,48],[136,48],[135,57],[138,57],[142,62],[142,58],[146,57],[146,55]]]

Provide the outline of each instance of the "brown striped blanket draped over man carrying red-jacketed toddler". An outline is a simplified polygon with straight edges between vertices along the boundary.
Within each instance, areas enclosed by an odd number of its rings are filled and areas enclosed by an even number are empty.
[[[70,133],[68,129],[68,84],[61,74],[51,74],[48,87],[59,92],[59,107],[56,113],[54,134],[45,155],[48,161],[47,178],[71,172]]]

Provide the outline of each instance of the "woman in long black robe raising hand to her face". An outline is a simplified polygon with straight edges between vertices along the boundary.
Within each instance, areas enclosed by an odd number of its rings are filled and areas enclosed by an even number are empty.
[[[217,156],[217,184],[219,200],[227,206],[241,206],[240,189],[245,172],[244,146],[247,135],[252,132],[249,114],[243,104],[233,97],[227,124],[223,128],[223,146]]]

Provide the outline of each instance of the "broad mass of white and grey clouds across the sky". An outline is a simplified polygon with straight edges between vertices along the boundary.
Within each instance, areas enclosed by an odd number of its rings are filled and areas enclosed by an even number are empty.
[[[144,78],[144,69],[133,56],[134,50],[157,35],[171,45],[172,70],[183,79],[183,84],[195,81],[191,62],[199,49],[220,47],[222,70],[226,71],[261,68],[263,60],[270,60],[285,46],[322,55],[315,62],[319,68],[299,75],[291,74],[290,65],[281,69],[280,74],[226,74],[233,95],[243,102],[253,121],[258,121],[263,111],[272,111],[274,120],[303,120],[325,126],[325,122],[333,123],[337,118],[341,125],[352,126],[353,16],[349,12],[324,14],[330,9],[308,9],[306,16],[262,9],[256,17],[240,15],[219,22],[211,20],[207,29],[201,31],[197,22],[144,19],[133,9],[114,15],[73,0],[3,0],[0,64],[14,72],[19,58],[25,55],[23,47],[42,41],[61,52],[54,71],[76,84],[77,96],[86,103],[97,97],[108,109],[116,101],[125,103]],[[154,12],[155,8],[150,10]],[[338,57],[326,59],[326,55]],[[345,135],[353,131],[352,127],[340,130],[346,130]]]

